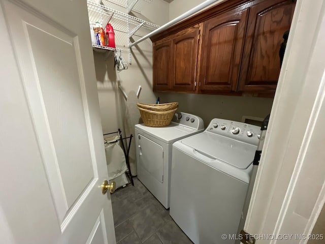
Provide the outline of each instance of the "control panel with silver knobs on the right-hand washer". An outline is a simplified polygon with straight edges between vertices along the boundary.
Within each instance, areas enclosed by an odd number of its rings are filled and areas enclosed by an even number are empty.
[[[261,128],[228,119],[214,118],[206,131],[257,145]]]

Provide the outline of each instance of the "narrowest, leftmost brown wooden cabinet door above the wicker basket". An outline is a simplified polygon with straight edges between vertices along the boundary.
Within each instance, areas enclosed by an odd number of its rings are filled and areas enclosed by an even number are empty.
[[[153,90],[164,92],[170,89],[172,41],[153,44]]]

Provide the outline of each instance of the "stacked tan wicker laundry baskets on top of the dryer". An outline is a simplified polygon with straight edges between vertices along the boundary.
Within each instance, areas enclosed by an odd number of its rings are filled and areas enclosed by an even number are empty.
[[[171,124],[178,103],[137,104],[143,123],[149,127],[164,127]],[[166,110],[168,109],[168,110]]]

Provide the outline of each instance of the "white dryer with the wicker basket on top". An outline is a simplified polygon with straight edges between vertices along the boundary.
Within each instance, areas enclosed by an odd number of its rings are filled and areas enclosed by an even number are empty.
[[[135,125],[138,178],[166,208],[169,208],[172,144],[203,130],[202,118],[188,113],[176,113],[167,127]]]

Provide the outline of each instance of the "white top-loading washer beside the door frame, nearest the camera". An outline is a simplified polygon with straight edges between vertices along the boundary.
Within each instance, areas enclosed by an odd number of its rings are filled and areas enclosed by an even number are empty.
[[[174,143],[170,215],[194,243],[235,242],[260,131],[214,118]]]

